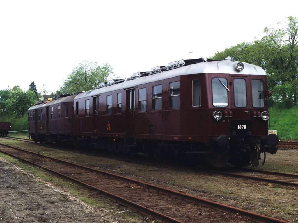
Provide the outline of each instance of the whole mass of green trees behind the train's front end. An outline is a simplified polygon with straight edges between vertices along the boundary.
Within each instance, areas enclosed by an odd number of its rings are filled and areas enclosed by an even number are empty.
[[[273,92],[274,103],[291,107],[298,103],[298,19],[287,17],[282,28],[265,28],[261,40],[240,43],[217,52],[213,59],[232,56],[263,67],[268,74],[268,89]]]

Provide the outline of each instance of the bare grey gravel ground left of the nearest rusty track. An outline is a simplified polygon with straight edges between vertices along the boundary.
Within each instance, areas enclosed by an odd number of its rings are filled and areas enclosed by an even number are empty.
[[[132,222],[87,205],[1,157],[0,190],[0,222]]]

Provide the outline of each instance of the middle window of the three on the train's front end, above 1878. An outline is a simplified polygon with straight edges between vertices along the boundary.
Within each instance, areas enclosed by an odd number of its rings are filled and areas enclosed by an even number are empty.
[[[234,103],[236,107],[246,107],[246,82],[242,78],[235,78],[233,80],[234,86]]]

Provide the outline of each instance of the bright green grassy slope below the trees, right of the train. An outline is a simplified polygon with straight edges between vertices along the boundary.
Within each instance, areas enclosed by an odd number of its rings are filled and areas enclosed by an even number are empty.
[[[290,109],[270,108],[270,127],[277,130],[280,140],[298,141],[298,105]]]

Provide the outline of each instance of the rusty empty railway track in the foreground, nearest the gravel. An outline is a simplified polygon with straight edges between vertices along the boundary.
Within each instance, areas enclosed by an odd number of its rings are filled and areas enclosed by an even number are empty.
[[[209,222],[210,218],[214,222],[285,222],[3,144],[0,144],[0,151],[99,191],[111,200],[145,215],[151,215],[162,222]],[[227,219],[224,213],[239,213],[243,218]]]

